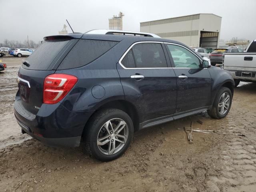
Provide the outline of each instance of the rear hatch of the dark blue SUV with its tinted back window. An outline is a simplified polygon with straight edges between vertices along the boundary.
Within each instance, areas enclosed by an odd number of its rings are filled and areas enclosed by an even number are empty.
[[[18,73],[20,104],[36,114],[43,103],[43,86],[46,76],[53,74],[60,62],[76,44],[82,34],[50,36],[23,62]]]

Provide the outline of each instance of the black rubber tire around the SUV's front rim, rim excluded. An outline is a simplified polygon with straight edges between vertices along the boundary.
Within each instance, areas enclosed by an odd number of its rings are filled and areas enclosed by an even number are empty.
[[[220,97],[222,96],[222,94],[227,93],[230,96],[230,104],[228,106],[228,110],[224,113],[221,114],[218,110],[218,105],[219,105],[219,101],[220,101]],[[208,110],[208,114],[210,117],[215,118],[215,119],[222,119],[224,117],[226,117],[226,115],[228,114],[230,107],[232,104],[232,93],[231,90],[227,87],[222,87],[220,88],[220,90],[218,91],[218,93],[216,94],[216,97],[214,99],[212,108],[210,110]]]

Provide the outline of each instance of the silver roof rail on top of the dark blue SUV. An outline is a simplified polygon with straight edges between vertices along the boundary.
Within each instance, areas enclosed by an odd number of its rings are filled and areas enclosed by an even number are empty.
[[[106,34],[106,35],[133,35],[133,36],[145,36],[145,37],[156,37],[160,36],[153,33],[134,32],[134,31],[123,31],[123,30],[108,30],[108,29],[95,29],[86,32],[85,34]]]

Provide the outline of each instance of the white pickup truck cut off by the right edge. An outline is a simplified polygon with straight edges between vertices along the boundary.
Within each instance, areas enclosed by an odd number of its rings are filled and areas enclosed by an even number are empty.
[[[256,40],[253,40],[246,52],[224,53],[223,68],[230,71],[235,86],[240,81],[256,83]]]

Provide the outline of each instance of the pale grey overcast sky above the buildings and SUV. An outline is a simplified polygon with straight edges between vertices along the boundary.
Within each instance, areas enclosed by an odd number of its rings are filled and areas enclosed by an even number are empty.
[[[75,32],[108,29],[108,18],[125,14],[123,30],[140,30],[140,22],[197,13],[222,17],[220,38],[256,39],[256,0],[0,0],[0,42],[38,42],[58,34],[65,19]],[[71,32],[68,28],[68,32]]]

